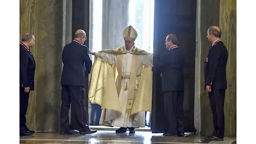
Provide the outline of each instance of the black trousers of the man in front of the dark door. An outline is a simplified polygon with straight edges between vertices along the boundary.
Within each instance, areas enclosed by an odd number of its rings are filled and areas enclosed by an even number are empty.
[[[184,133],[183,114],[184,91],[164,91],[164,111],[166,116],[166,133],[178,135]]]

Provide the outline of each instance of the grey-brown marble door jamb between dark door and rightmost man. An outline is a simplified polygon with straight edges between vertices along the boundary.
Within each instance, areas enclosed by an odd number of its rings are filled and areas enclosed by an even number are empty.
[[[209,97],[204,90],[204,61],[210,49],[207,29],[219,25],[219,0],[198,0],[196,13],[196,57],[195,57],[195,128],[202,135],[213,132]]]

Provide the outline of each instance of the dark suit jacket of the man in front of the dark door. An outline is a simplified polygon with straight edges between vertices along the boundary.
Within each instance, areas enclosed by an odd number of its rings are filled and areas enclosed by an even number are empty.
[[[162,73],[162,90],[184,90],[184,65],[183,50],[175,48],[168,50],[153,66],[152,71]]]

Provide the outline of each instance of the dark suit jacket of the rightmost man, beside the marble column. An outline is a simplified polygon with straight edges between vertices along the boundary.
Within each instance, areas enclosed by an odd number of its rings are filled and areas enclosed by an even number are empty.
[[[205,87],[210,85],[212,90],[227,89],[227,60],[228,50],[223,42],[213,45],[204,65]]]

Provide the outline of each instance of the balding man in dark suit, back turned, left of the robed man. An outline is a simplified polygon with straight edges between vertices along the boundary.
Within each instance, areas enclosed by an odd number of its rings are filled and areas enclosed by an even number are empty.
[[[63,71],[61,77],[61,135],[74,134],[70,129],[68,111],[72,105],[72,128],[78,130],[80,135],[95,133],[87,125],[85,106],[83,103],[85,94],[85,73],[90,73],[92,62],[88,55],[88,48],[83,43],[86,33],[78,29],[72,43],[63,48]],[[86,69],[85,69],[86,67]],[[75,114],[73,114],[75,113]]]

